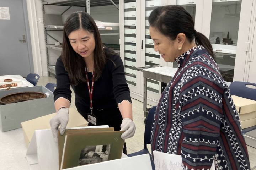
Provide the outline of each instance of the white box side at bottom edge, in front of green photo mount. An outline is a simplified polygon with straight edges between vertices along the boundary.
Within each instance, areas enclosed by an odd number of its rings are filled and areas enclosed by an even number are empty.
[[[78,166],[65,170],[152,170],[149,154]]]

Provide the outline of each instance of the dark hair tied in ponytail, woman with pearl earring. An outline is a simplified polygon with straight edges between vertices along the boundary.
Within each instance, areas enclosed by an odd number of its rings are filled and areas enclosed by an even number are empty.
[[[193,18],[182,6],[167,5],[154,9],[149,16],[149,25],[170,40],[175,40],[179,33],[185,34],[188,42],[195,40],[196,45],[202,45],[215,59],[209,39],[202,33],[196,32]]]

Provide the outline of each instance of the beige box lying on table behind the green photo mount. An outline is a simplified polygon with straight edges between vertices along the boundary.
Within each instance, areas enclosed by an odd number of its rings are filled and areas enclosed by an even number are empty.
[[[26,146],[28,147],[35,130],[50,129],[50,120],[57,113],[49,114],[43,117],[38,117],[37,119],[22,122],[22,131],[25,139]],[[74,108],[69,109],[69,122],[67,128],[69,127],[84,127],[87,126],[88,122],[82,117],[78,111]]]

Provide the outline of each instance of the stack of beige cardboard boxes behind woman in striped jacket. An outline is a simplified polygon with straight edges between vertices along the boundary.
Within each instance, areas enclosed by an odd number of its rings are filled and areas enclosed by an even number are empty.
[[[242,129],[256,125],[256,101],[233,95]]]

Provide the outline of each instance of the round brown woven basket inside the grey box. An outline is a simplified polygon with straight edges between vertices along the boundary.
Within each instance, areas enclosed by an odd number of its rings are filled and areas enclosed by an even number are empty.
[[[42,98],[46,98],[46,94],[41,92],[12,93],[0,98],[0,105],[18,103],[18,102],[24,102],[28,100],[42,99]]]

